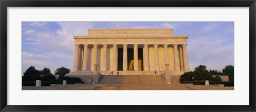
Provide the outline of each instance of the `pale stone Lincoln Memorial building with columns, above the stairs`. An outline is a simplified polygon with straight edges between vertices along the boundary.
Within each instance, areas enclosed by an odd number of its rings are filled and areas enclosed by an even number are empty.
[[[189,71],[188,35],[173,35],[172,28],[89,29],[74,38],[74,68],[67,75],[87,82],[94,74],[162,75],[167,82]]]

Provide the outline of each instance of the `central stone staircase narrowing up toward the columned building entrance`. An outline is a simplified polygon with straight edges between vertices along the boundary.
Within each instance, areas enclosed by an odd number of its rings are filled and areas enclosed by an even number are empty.
[[[102,75],[98,84],[165,84],[161,75]]]

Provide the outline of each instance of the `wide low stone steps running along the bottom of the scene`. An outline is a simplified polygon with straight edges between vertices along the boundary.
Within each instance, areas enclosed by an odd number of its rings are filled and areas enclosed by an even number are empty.
[[[234,90],[234,87],[193,84],[73,84],[41,87],[22,86],[22,90]]]

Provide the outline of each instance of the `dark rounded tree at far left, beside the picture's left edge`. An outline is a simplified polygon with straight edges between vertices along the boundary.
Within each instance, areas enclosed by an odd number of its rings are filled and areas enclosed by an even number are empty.
[[[39,74],[39,71],[34,67],[34,66],[30,66],[26,71],[25,73],[23,73],[23,80],[22,82],[33,82],[33,81],[36,81],[36,79],[38,78],[38,74]],[[37,76],[35,76],[37,75]]]

